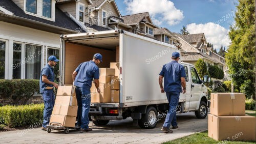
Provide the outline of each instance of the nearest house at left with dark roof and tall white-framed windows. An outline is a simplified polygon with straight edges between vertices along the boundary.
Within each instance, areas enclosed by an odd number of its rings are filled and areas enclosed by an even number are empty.
[[[0,1],[0,79],[39,79],[59,36],[79,27],[50,0]]]

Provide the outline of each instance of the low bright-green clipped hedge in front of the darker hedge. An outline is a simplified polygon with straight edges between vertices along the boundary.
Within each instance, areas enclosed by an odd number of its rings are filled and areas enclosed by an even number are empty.
[[[44,104],[0,107],[0,124],[9,127],[25,126],[42,122]]]

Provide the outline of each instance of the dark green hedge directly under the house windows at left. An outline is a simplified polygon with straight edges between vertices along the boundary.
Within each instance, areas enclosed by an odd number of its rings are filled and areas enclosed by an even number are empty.
[[[0,93],[8,98],[12,105],[27,104],[34,94],[39,93],[39,80],[0,79]]]

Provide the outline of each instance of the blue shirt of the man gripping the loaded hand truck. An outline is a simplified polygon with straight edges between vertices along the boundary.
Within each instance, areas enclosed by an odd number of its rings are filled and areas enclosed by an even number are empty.
[[[47,76],[47,78],[54,82],[54,71],[53,68],[47,64],[44,68],[42,68],[41,70],[41,74],[40,74],[40,81],[39,81],[39,85],[40,85],[40,93],[44,93],[45,88],[48,87],[53,87],[52,84],[47,84],[45,82],[42,82],[42,75]],[[47,85],[47,86],[46,86]]]

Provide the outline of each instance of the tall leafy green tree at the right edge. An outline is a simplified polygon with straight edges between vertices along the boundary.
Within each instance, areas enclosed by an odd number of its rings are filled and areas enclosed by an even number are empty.
[[[232,82],[255,99],[255,13],[254,0],[239,0],[234,25],[230,26],[231,44],[227,49],[226,62]]]

